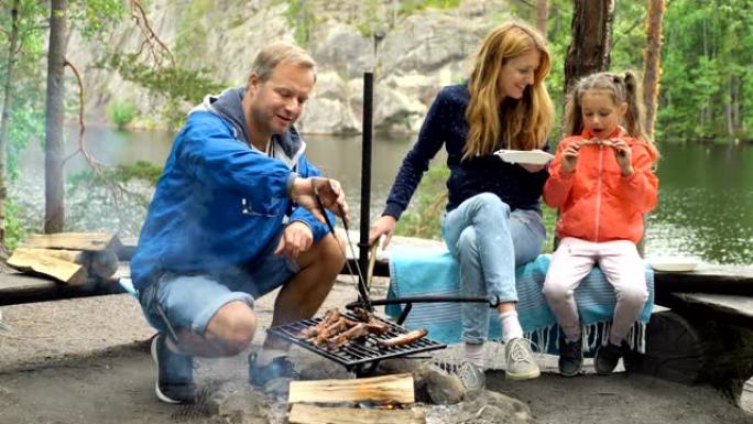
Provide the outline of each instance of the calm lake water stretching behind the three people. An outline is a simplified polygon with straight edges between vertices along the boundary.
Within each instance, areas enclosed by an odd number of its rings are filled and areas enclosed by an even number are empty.
[[[173,133],[87,130],[88,150],[106,164],[139,160],[162,165]],[[75,140],[74,137],[70,140]],[[361,138],[308,135],[307,155],[325,175],[342,182],[351,207],[353,228],[360,217]],[[390,186],[414,137],[374,139],[371,216],[384,207]],[[75,142],[69,142],[73,151]],[[712,263],[751,264],[753,257],[753,146],[659,144],[659,205],[648,217],[648,257],[684,254]],[[436,163],[444,162],[439,154]],[[39,148],[24,154],[25,177],[43,175]],[[80,157],[70,161],[68,175],[86,168]],[[26,183],[24,183],[26,184]],[[42,196],[43,198],[43,196]],[[85,207],[77,214],[97,214]],[[89,210],[91,209],[91,210]],[[134,215],[134,219],[139,219]],[[127,228],[138,231],[139,222]],[[122,229],[121,229],[122,231]],[[127,230],[128,231],[128,230]]]

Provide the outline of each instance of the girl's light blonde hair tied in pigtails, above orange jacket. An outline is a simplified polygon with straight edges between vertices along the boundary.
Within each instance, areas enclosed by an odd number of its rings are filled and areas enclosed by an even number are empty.
[[[624,123],[628,134],[645,142],[652,159],[654,161],[658,159],[658,150],[646,132],[643,102],[640,101],[641,85],[632,70],[626,70],[624,74],[608,72],[591,74],[576,83],[565,102],[565,135],[577,135],[583,131],[582,97],[587,90],[605,91],[618,106],[625,102],[628,111],[624,116]]]

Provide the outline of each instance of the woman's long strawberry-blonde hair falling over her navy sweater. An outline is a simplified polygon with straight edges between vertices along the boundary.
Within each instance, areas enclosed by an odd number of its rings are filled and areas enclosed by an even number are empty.
[[[505,98],[500,102],[499,75],[510,59],[526,53],[541,54],[534,72],[534,84],[527,86],[520,100]],[[552,61],[546,40],[533,28],[521,22],[508,22],[492,30],[481,43],[473,61],[466,110],[469,131],[463,159],[490,154],[500,149],[532,150],[546,143],[554,122],[554,107],[544,86]]]

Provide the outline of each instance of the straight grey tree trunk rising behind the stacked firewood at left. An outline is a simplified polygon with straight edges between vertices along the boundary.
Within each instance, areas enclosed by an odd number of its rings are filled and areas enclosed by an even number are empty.
[[[44,232],[59,232],[65,222],[63,143],[65,119],[65,50],[67,0],[52,0],[47,52],[47,108],[44,157]]]

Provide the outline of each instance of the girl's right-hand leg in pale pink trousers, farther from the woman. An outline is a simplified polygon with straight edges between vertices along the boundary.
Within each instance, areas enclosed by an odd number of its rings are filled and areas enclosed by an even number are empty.
[[[629,240],[600,243],[599,268],[614,287],[616,305],[609,343],[620,346],[648,298],[646,273],[635,244]]]

